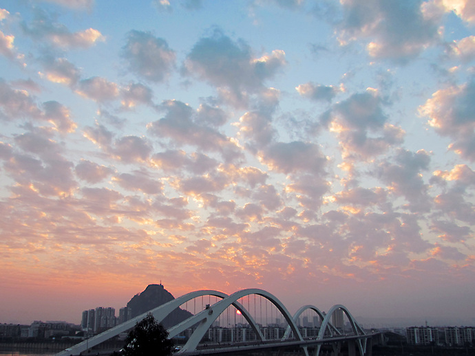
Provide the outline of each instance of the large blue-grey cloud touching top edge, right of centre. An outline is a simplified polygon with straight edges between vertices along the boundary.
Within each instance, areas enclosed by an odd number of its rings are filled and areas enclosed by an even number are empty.
[[[368,38],[373,58],[406,62],[439,41],[439,19],[431,3],[422,1],[341,1],[344,19],[339,40],[348,43]]]

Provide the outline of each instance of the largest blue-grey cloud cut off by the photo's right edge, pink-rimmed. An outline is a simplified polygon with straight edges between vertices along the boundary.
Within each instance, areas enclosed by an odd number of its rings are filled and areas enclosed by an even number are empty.
[[[422,116],[430,118],[428,124],[441,136],[450,137],[450,151],[475,161],[475,80],[453,85],[432,94],[419,107]]]

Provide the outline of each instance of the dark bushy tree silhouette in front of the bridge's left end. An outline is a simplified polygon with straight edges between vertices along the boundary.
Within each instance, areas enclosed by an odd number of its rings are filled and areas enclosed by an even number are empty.
[[[158,324],[154,315],[148,314],[129,331],[124,352],[126,356],[165,356],[171,355],[172,348],[168,331]]]

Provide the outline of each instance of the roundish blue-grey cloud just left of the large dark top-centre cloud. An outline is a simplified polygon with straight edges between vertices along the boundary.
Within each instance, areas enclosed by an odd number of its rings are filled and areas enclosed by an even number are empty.
[[[175,52],[169,48],[167,41],[151,32],[130,31],[122,51],[129,69],[151,82],[165,81],[175,66]]]

